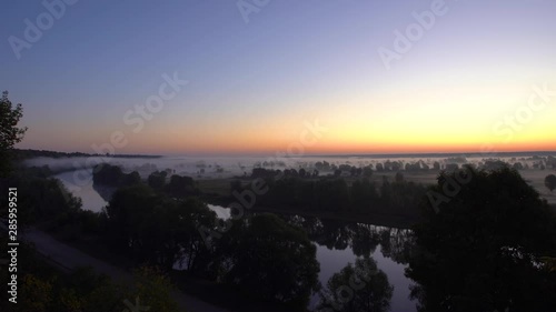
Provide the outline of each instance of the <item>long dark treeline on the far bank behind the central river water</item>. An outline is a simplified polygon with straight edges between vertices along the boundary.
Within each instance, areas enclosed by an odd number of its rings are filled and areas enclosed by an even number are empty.
[[[290,171],[291,172],[291,171]],[[426,187],[408,182],[398,172],[394,181],[383,177],[377,184],[360,177],[348,184],[340,177],[304,179],[304,175],[267,169],[254,169],[251,178],[265,179],[268,192],[257,198],[257,205],[294,211],[368,212],[404,214],[418,218],[417,204],[426,194]],[[239,181],[231,191],[241,193]]]

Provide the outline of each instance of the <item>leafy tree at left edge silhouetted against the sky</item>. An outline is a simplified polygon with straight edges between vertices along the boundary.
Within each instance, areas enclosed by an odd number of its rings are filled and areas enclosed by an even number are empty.
[[[26,127],[17,127],[21,117],[23,117],[21,103],[13,108],[8,99],[8,91],[3,91],[0,99],[0,177],[8,175],[11,170],[10,152],[16,143],[23,140],[27,131]]]

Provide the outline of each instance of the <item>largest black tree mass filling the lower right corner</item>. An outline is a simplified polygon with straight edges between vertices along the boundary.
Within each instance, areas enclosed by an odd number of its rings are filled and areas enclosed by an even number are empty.
[[[419,311],[554,310],[556,275],[538,263],[556,254],[555,215],[516,170],[443,172],[429,191],[406,271]]]

